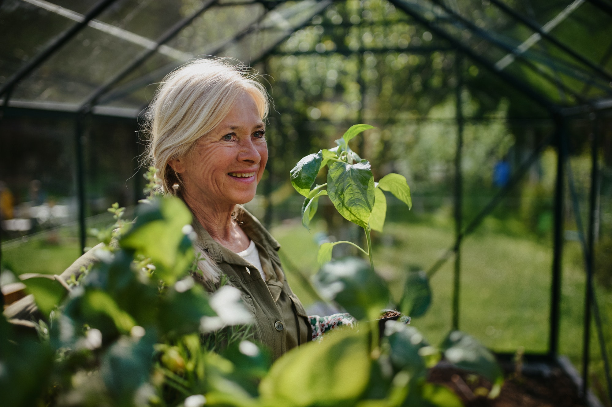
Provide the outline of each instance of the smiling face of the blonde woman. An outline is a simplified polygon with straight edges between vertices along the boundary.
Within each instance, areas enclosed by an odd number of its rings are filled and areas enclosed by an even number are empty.
[[[181,174],[188,195],[212,205],[246,204],[266,167],[265,130],[253,97],[244,92],[192,152],[170,165]]]

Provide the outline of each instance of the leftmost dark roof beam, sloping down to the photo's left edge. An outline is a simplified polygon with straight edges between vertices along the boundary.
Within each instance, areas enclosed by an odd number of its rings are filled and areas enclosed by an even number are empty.
[[[21,79],[32,73],[32,71],[39,67],[40,64],[45,62],[48,57],[53,55],[57,50],[59,50],[59,48],[64,46],[65,43],[69,42],[72,37],[78,34],[78,32],[80,32],[81,29],[83,29],[89,23],[89,21],[100,15],[100,13],[106,10],[106,8],[115,1],[116,0],[100,0],[97,4],[95,4],[94,8],[83,16],[83,21],[76,23],[71,28],[67,29],[63,34],[59,35],[59,37],[53,40],[53,42],[51,42],[47,48],[42,50],[37,56],[34,57],[34,59],[28,62],[28,64],[18,70],[15,75],[10,77],[6,83],[0,86],[0,96],[6,94],[6,100],[8,100],[13,88],[17,86]]]

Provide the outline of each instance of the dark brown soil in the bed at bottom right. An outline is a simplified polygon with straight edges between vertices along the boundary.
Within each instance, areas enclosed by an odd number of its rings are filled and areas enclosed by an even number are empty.
[[[430,370],[428,380],[452,389],[466,407],[586,407],[573,381],[559,367],[543,365],[519,376],[511,365],[505,367],[506,382],[493,400],[487,398],[491,383],[444,362]]]

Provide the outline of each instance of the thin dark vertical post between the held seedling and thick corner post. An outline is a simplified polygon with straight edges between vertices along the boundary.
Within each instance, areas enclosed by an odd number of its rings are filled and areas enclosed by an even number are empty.
[[[461,90],[463,89],[463,72],[461,71],[463,55],[456,54],[457,87],[455,103],[457,104],[457,148],[455,151],[455,269],[453,271],[453,320],[452,329],[459,329],[459,295],[461,279],[461,228],[463,227],[463,177],[461,174],[461,155],[463,153],[463,109]]]

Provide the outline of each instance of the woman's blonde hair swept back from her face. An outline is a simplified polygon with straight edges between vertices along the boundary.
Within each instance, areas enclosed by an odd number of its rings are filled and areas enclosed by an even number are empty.
[[[237,98],[253,97],[261,119],[270,101],[258,74],[231,59],[198,59],[164,78],[146,114],[146,160],[157,168],[163,193],[176,194],[181,178],[170,161],[181,158],[196,141],[214,129],[230,112]]]

